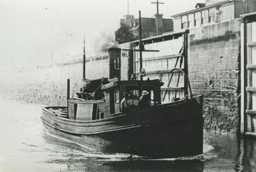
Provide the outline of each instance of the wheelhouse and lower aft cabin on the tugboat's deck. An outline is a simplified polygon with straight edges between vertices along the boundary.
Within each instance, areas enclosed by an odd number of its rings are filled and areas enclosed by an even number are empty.
[[[138,109],[138,101],[143,90],[149,92],[151,106],[161,104],[161,86],[163,82],[159,80],[119,81],[116,85],[113,85],[113,87],[99,90],[99,92],[104,91],[104,95],[100,99],[88,100],[77,97],[68,99],[68,118],[74,120],[97,120],[120,113],[120,102],[124,98],[125,92],[130,95],[128,104],[132,110]],[[93,94],[97,95],[97,92],[93,92]]]

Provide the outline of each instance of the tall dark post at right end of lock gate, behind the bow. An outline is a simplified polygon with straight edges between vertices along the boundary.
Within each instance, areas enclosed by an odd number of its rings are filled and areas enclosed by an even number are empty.
[[[189,30],[186,30],[183,35],[183,38],[184,38],[184,55],[183,55],[184,56],[184,68],[183,68],[183,71],[186,76],[188,76],[188,32],[189,32]],[[186,96],[187,94],[188,94],[188,81],[186,80],[186,77],[184,77],[184,96]]]

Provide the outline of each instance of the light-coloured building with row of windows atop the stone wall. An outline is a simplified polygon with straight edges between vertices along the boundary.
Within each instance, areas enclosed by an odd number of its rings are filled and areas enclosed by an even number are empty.
[[[198,3],[195,10],[173,15],[173,31],[191,29],[202,25],[214,24],[216,7],[222,11],[220,22],[234,20],[246,13],[242,0],[208,0],[205,4]]]

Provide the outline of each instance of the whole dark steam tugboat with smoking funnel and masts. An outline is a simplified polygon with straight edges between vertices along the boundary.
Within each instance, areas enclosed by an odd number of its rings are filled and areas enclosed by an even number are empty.
[[[142,47],[140,44],[140,52]],[[120,65],[116,62],[121,61],[121,49],[113,47],[108,51],[109,79],[84,79],[83,89],[76,92],[77,97],[71,98],[68,80],[67,107],[47,106],[43,109],[42,122],[47,131],[105,154],[154,158],[202,154],[203,101],[202,96],[193,97],[186,73],[177,68],[170,71],[183,73],[189,95],[162,104],[163,82],[120,80],[120,70],[115,67]],[[150,104],[140,108],[139,99],[145,92]],[[129,111],[123,111],[120,103],[125,94],[129,95]]]

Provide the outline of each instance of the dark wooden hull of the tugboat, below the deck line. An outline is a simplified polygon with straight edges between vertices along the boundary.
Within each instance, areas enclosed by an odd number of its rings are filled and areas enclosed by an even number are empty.
[[[69,128],[69,121],[44,110],[47,130],[98,152],[147,157],[184,157],[203,153],[202,97],[135,114],[116,115]],[[91,131],[91,132],[89,132]]]

